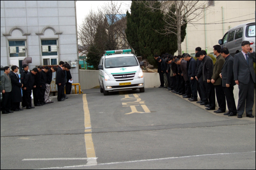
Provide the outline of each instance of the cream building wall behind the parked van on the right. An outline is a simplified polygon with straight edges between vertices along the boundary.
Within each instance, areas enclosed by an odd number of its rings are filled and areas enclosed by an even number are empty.
[[[215,1],[215,6],[209,7],[205,15],[203,14],[204,17],[195,22],[194,26],[187,25],[187,34],[181,44],[182,51],[189,54],[195,53],[195,48],[200,46],[202,50],[206,49],[207,53],[213,53],[212,46],[219,44],[219,39],[222,39],[229,29],[242,23],[255,22],[254,11],[255,1]],[[224,23],[223,29],[222,22],[232,23]],[[202,23],[202,25],[198,23]],[[205,27],[204,23],[218,24],[210,24]]]

